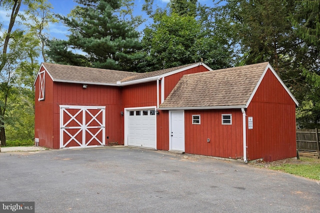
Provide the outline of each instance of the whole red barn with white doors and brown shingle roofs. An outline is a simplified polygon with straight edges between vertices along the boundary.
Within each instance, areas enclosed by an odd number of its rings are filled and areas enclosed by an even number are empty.
[[[295,157],[295,106],[268,63],[133,73],[42,63],[35,140],[53,149],[119,144],[274,161]]]

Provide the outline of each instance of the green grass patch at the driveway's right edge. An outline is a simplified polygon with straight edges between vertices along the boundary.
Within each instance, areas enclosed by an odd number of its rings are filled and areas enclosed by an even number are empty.
[[[270,165],[269,169],[320,181],[320,159],[316,158],[300,157],[293,163]]]

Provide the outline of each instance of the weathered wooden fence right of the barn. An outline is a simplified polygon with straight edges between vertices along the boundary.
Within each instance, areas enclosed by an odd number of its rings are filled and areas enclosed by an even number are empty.
[[[300,151],[320,152],[320,131],[318,129],[297,129],[296,149]]]

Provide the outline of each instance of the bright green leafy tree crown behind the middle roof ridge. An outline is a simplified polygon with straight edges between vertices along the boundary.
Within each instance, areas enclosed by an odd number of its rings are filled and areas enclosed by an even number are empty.
[[[142,45],[147,53],[146,62],[140,66],[151,71],[195,62],[190,51],[200,29],[195,19],[176,13],[157,14],[154,19],[158,24],[144,29]],[[146,64],[154,65],[150,67]]]

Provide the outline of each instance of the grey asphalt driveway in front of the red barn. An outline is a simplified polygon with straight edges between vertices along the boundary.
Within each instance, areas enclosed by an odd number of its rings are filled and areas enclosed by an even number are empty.
[[[0,153],[0,201],[34,201],[36,213],[315,213],[320,183],[139,148],[11,152]]]

